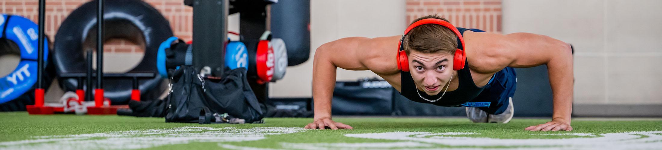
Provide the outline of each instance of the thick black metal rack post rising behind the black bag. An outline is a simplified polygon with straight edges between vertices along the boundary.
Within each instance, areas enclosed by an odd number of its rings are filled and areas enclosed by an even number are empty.
[[[228,0],[193,1],[193,66],[211,67],[216,77],[223,74],[227,20]]]

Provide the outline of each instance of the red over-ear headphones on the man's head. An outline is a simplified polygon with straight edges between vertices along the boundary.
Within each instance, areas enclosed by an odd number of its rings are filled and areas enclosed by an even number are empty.
[[[462,38],[462,34],[459,33],[459,30],[453,26],[453,24],[446,22],[441,19],[422,19],[414,22],[411,24],[409,27],[407,27],[406,30],[404,30],[404,34],[402,34],[402,38],[400,38],[400,44],[398,48],[398,55],[397,55],[397,60],[398,60],[398,69],[401,71],[409,71],[409,61],[407,59],[407,54],[404,52],[404,46],[402,45],[402,40],[404,40],[404,36],[407,35],[407,33],[412,30],[412,28],[416,28],[416,26],[420,26],[423,24],[439,24],[442,26],[445,26],[446,28],[449,28],[455,32],[455,35],[457,36],[457,39],[459,39],[459,44],[461,44],[462,49],[467,49],[467,47],[464,46],[464,39]],[[465,62],[465,51],[460,50],[459,48],[455,50],[455,57],[453,59],[453,70],[459,70],[464,68],[464,62]]]

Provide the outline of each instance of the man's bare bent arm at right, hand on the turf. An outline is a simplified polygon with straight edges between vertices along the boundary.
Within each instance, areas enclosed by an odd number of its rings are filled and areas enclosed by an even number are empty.
[[[510,57],[508,67],[547,65],[553,96],[553,116],[550,122],[530,126],[530,131],[570,131],[573,107],[573,55],[571,46],[560,40],[530,33],[502,35],[499,42],[504,55]]]

